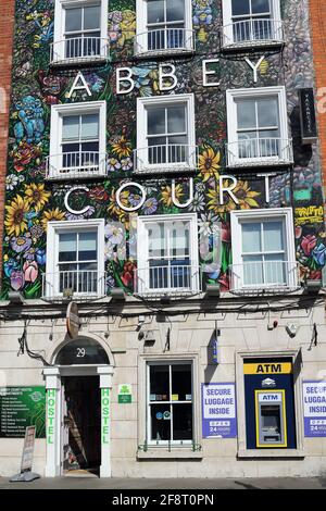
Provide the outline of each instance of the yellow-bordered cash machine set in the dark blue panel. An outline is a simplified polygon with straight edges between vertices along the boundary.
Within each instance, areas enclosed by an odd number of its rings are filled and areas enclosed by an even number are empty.
[[[255,390],[256,447],[287,447],[285,390]]]

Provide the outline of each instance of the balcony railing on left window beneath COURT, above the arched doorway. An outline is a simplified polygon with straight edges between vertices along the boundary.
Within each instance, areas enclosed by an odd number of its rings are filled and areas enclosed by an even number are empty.
[[[105,296],[106,273],[97,270],[73,270],[42,275],[42,298],[63,300],[74,298],[91,300]]]

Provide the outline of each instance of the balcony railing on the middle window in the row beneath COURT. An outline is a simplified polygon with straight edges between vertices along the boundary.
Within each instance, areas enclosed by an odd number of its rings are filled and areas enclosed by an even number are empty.
[[[134,272],[134,289],[138,295],[193,295],[201,290],[198,265],[146,266]]]

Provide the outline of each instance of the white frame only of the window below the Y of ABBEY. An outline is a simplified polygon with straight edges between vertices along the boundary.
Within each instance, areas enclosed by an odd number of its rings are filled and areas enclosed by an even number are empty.
[[[287,98],[285,86],[272,86],[272,87],[254,87],[248,89],[227,89],[226,90],[226,111],[227,111],[227,147],[235,145],[235,154],[230,155],[228,149],[228,161],[227,166],[261,166],[261,165],[273,165],[280,164],[283,160],[280,157],[254,157],[254,158],[239,158],[239,146],[238,140],[238,115],[237,115],[237,101],[239,99],[266,99],[277,98],[278,102],[278,115],[279,115],[279,145],[280,150],[284,151],[285,144],[290,145],[289,138],[289,124],[287,113]],[[291,163],[291,151],[289,150],[289,161]]]

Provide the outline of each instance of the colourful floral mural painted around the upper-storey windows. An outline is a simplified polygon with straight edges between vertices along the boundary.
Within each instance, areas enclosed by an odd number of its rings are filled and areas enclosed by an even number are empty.
[[[142,182],[147,198],[138,214],[176,214],[195,212],[200,233],[212,225],[222,225],[221,269],[205,274],[209,283],[218,282],[223,290],[229,287],[228,266],[231,262],[229,212],[238,209],[291,205],[297,209],[323,205],[319,160],[315,150],[308,151],[300,145],[298,133],[298,97],[296,88],[313,86],[313,70],[306,5],[298,7],[296,0],[283,4],[284,17],[289,26],[296,23],[293,38],[285,54],[264,51],[265,59],[253,84],[252,70],[237,55],[220,52],[221,1],[192,0],[192,23],[197,37],[193,57],[170,59],[176,66],[177,87],[168,92],[160,91],[158,63],[133,60],[136,34],[135,2],[110,1],[108,20],[110,59],[103,65],[83,68],[83,75],[91,91],[70,90],[76,70],[49,66],[50,43],[53,40],[52,0],[17,0],[15,52],[13,62],[13,90],[10,113],[10,140],[8,175],[5,178],[5,220],[3,240],[2,297],[10,289],[24,292],[26,298],[41,296],[41,278],[46,271],[47,225],[49,221],[105,219],[106,286],[123,287],[133,292],[136,261],[136,239],[131,228],[133,216],[120,208],[116,190],[122,184],[137,182],[133,150],[136,148],[136,98],[162,94],[195,94],[196,136],[199,147],[197,174],[193,176],[193,200],[187,208],[178,208],[172,200],[172,179],[168,176],[151,177]],[[296,15],[289,14],[296,10]],[[298,12],[302,10],[302,12]],[[306,11],[308,12],[308,11]],[[298,48],[300,52],[298,52]],[[305,65],[299,68],[297,61]],[[220,87],[202,84],[202,59],[216,59]],[[254,60],[254,58],[252,57]],[[258,60],[258,59],[256,59]],[[116,67],[128,66],[136,86],[129,95],[116,95]],[[299,79],[300,78],[300,79]],[[288,114],[294,145],[293,170],[280,169],[269,179],[269,202],[266,203],[265,180],[254,173],[237,176],[234,194],[236,204],[226,195],[220,201],[218,177],[229,174],[225,162],[226,107],[225,90],[238,87],[286,85]],[[66,192],[76,183],[50,184],[45,182],[46,159],[49,155],[51,105],[79,101],[106,101],[106,176],[87,182],[86,190],[71,196],[73,214],[64,203]],[[297,124],[296,124],[297,123]],[[227,186],[227,184],[226,184]],[[189,197],[189,179],[176,179],[175,198],[185,202]],[[140,202],[137,189],[131,187],[121,195],[123,204],[135,207]],[[296,216],[296,215],[294,215]],[[323,215],[322,215],[323,216]],[[319,278],[326,262],[326,233],[322,216],[296,222],[296,247],[301,279]],[[123,228],[114,227],[121,222]],[[122,237],[127,239],[126,253],[120,251]],[[206,261],[202,260],[204,264]]]

